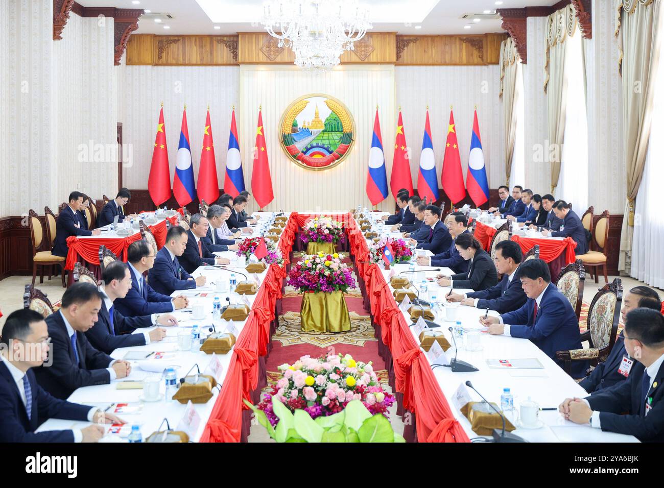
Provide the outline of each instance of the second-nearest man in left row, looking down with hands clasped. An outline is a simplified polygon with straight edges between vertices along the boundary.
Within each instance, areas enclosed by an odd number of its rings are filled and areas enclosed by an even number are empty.
[[[37,382],[56,398],[68,398],[82,386],[109,384],[131,372],[128,361],[98,351],[85,333],[98,321],[102,293],[90,283],[74,283],[62,295],[62,308],[46,317],[52,341],[50,367],[35,370]]]

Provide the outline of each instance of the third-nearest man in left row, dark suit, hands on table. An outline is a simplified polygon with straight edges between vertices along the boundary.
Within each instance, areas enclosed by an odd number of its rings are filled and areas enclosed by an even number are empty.
[[[170,313],[152,313],[140,317],[125,317],[114,307],[114,301],[127,295],[131,288],[129,266],[122,261],[114,261],[104,268],[104,288],[102,308],[97,323],[85,335],[92,347],[110,354],[120,347],[144,346],[161,341],[166,330],[156,327],[151,331],[133,334],[135,329],[153,325],[175,325],[177,320]]]

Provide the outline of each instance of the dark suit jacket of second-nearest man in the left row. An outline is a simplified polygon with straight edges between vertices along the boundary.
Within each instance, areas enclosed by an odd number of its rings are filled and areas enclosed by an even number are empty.
[[[35,369],[37,382],[44,390],[64,400],[76,388],[110,383],[111,376],[106,368],[113,359],[109,355],[97,351],[86,335],[78,332],[76,333],[78,363],[76,363],[74,349],[60,311],[48,315],[46,325],[51,339],[48,354],[52,357],[52,365]]]

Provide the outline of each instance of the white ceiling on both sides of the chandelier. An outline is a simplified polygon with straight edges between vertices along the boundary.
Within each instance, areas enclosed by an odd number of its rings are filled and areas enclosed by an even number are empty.
[[[396,32],[402,35],[425,34],[485,34],[503,32],[494,9],[550,7],[558,0],[361,0],[372,12],[374,32]],[[262,31],[264,0],[78,0],[83,7],[118,7],[120,9],[148,9],[138,23],[139,34],[234,34]],[[201,7],[205,7],[205,10]],[[465,14],[480,14],[490,10],[488,17],[475,23],[461,19]],[[206,11],[209,13],[206,13]],[[161,14],[161,15],[157,15]],[[168,19],[170,14],[173,19]],[[154,19],[161,19],[157,23]],[[212,22],[213,19],[218,22]],[[163,26],[170,29],[164,29]],[[219,29],[214,29],[218,26]],[[416,26],[421,26],[416,29]],[[469,29],[464,29],[470,26]],[[371,32],[371,31],[370,31]]]

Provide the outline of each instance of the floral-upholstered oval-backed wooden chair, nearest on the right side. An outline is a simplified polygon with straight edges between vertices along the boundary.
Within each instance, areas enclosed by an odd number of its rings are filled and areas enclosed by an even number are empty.
[[[621,302],[622,282],[620,278],[616,278],[611,284],[604,285],[596,293],[590,303],[590,309],[588,309],[588,329],[581,335],[582,342],[588,341],[588,349],[556,352],[556,358],[563,362],[567,374],[570,374],[573,361],[590,359],[591,365],[596,366],[600,360],[606,359],[616,343]]]

